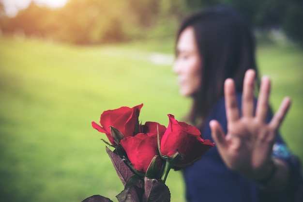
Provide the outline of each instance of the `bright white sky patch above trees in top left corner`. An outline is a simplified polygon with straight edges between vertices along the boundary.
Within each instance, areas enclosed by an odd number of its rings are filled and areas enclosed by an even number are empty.
[[[48,6],[50,8],[62,7],[68,0],[0,0],[5,12],[8,16],[15,16],[20,9],[28,7],[31,1],[34,1],[37,5]]]

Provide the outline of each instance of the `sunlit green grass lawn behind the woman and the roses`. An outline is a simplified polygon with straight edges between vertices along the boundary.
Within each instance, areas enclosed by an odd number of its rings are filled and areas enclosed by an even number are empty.
[[[173,40],[75,47],[0,38],[0,198],[5,202],[81,202],[100,194],[113,201],[123,189],[91,127],[107,109],[144,103],[140,120],[167,125],[182,119],[190,100],[178,93],[168,64],[153,52],[171,54]],[[303,51],[293,45],[258,49],[262,74],[273,79],[271,103],[293,105],[281,132],[303,159]],[[183,202],[179,172],[167,186]]]

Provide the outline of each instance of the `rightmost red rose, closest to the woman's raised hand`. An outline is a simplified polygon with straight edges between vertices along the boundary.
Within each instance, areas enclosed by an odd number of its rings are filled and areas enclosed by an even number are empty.
[[[178,162],[178,165],[182,166],[201,158],[214,146],[212,141],[201,138],[201,133],[196,127],[178,122],[171,114],[168,114],[168,117],[169,124],[160,142],[162,155],[172,156],[179,152],[184,156]]]

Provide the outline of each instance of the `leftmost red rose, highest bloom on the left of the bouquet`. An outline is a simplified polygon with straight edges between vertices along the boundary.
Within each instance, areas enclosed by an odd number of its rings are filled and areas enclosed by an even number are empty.
[[[117,128],[124,137],[135,135],[136,126],[138,123],[138,116],[143,104],[137,105],[133,108],[121,107],[119,109],[106,110],[101,114],[100,125],[91,122],[93,128],[101,133],[105,133],[110,143],[117,145],[110,133],[110,127]]]

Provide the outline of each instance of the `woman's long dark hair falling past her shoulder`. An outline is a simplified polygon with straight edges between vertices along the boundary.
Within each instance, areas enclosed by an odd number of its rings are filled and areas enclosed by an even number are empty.
[[[193,95],[194,102],[188,115],[188,121],[197,125],[224,96],[226,78],[233,78],[236,91],[242,92],[246,70],[254,69],[256,75],[258,71],[253,33],[236,11],[212,7],[189,16],[180,27],[177,42],[182,31],[189,26],[194,28],[202,59],[201,88]]]

